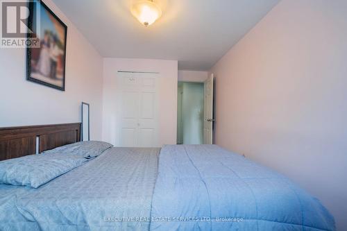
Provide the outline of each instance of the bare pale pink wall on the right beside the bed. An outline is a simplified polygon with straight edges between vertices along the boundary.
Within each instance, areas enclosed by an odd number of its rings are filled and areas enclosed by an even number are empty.
[[[347,1],[283,0],[212,68],[216,142],[276,169],[347,228]]]

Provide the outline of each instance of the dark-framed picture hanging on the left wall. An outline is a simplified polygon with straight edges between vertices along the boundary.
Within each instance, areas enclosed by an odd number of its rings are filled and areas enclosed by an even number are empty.
[[[42,1],[35,4],[29,3],[28,38],[37,37],[40,47],[26,49],[26,79],[65,91],[67,26]],[[33,20],[37,13],[40,22]]]

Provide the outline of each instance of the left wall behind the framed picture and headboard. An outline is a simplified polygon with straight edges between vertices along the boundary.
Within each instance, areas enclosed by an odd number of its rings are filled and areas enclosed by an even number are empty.
[[[85,101],[91,138],[101,139],[103,60],[51,0],[44,3],[67,25],[65,92],[26,80],[24,49],[0,49],[0,127],[81,122]]]

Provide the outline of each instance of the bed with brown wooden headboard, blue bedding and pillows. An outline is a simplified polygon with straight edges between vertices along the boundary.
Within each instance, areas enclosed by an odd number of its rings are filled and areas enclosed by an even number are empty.
[[[219,146],[110,147],[80,126],[0,129],[0,230],[335,230],[319,200]]]

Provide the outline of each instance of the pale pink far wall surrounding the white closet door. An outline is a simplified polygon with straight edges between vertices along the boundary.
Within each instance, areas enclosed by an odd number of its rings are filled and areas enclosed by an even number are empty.
[[[117,140],[117,71],[149,71],[160,73],[159,135],[160,144],[176,144],[177,81],[176,60],[105,58],[103,60],[103,140]]]

